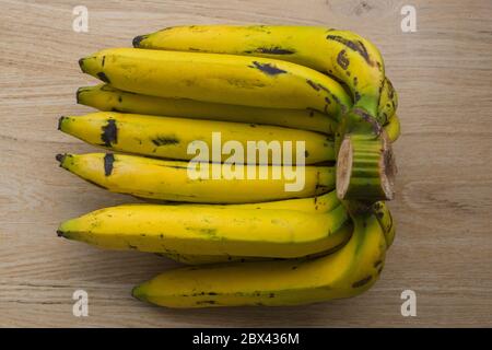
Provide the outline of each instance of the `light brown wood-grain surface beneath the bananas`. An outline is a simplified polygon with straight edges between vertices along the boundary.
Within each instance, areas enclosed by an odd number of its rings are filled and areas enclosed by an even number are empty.
[[[492,3],[411,1],[89,1],[89,33],[72,31],[79,1],[0,0],[0,326],[492,326]],[[197,23],[289,23],[353,30],[382,50],[400,96],[398,224],[382,279],[362,296],[303,307],[174,311],[130,296],[174,264],[57,238],[58,223],[132,201],[60,170],[58,152],[92,150],[56,130],[83,114],[77,60],[130,46],[138,34]],[[89,293],[89,317],[72,293]],[[402,317],[400,293],[417,293]]]

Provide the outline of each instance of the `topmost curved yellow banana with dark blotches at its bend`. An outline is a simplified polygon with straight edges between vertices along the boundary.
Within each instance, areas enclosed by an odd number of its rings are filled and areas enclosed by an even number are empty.
[[[316,26],[191,25],[140,35],[139,48],[250,55],[280,59],[335,75],[351,91],[355,107],[377,117],[380,125],[395,113],[396,96],[385,83],[384,62],[377,48],[348,32]],[[383,88],[380,88],[383,86]],[[382,91],[379,90],[382,89]],[[379,110],[379,96],[384,104]],[[391,106],[386,106],[389,102]]]

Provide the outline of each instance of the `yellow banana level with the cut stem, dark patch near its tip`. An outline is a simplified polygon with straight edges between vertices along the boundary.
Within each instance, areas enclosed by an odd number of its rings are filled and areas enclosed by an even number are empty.
[[[59,154],[57,160],[61,167],[110,191],[160,200],[256,203],[313,197],[335,188],[335,171],[329,166],[294,166],[292,174],[296,178],[293,178],[286,177],[283,167],[279,165],[246,165],[241,172],[243,178],[234,178],[234,173],[224,164],[207,164],[208,177],[192,179],[188,172],[194,170],[187,162],[110,153]],[[255,178],[248,179],[248,167],[253,167]],[[267,178],[259,177],[262,170],[268,175]],[[223,175],[213,178],[213,172],[222,172]],[[286,184],[292,185],[294,182],[298,182],[298,189],[286,190]],[[319,200],[314,202],[309,198],[306,202],[312,207],[325,208],[327,202],[333,201],[329,200],[331,198],[328,200],[324,200],[323,197],[315,198]],[[302,206],[298,201],[294,200],[285,209],[295,210],[296,206]],[[250,207],[256,208],[256,205]]]

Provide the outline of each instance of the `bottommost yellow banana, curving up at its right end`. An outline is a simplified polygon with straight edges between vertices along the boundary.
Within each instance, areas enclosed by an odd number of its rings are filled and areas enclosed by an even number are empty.
[[[377,280],[386,242],[374,215],[359,213],[352,220],[352,237],[333,254],[176,268],[136,287],[132,294],[167,307],[281,306],[358,295]]]

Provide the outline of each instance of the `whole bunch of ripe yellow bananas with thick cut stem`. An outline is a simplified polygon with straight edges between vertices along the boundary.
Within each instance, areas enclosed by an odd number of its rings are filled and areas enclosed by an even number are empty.
[[[59,154],[60,166],[148,203],[105,208],[58,235],[109,249],[160,254],[190,266],[136,287],[168,307],[295,305],[360,294],[380,275],[395,225],[391,151],[397,94],[378,50],[345,31],[312,26],[179,26],[137,36],[134,48],[82,58],[103,84],[59,129],[122,153]],[[304,142],[305,164],[269,155],[201,163],[197,140]],[[298,152],[297,152],[298,153]],[[286,191],[286,166],[304,187]],[[239,174],[257,176],[244,178]]]

